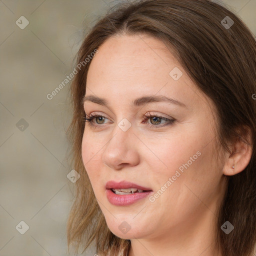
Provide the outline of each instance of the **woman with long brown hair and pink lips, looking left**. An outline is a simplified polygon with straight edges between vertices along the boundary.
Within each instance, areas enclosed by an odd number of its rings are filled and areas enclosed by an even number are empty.
[[[68,245],[254,255],[256,41],[246,25],[209,0],[120,3],[86,35],[77,65]]]

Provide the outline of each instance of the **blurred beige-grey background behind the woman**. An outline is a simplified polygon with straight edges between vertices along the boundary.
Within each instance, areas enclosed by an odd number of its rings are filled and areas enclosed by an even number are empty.
[[[0,0],[0,256],[71,255],[69,84],[52,91],[72,72],[82,28],[115,2]],[[256,35],[256,0],[219,2]]]

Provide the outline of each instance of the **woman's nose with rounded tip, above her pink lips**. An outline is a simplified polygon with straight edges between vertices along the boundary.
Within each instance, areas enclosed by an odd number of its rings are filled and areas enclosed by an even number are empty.
[[[108,167],[120,170],[123,167],[135,166],[139,163],[137,137],[132,131],[132,126],[123,131],[116,125],[109,141],[104,147],[102,161]]]

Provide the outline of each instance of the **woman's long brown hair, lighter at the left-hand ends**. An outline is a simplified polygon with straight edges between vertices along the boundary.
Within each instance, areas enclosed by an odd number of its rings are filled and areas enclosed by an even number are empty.
[[[234,22],[229,28],[222,21],[226,16]],[[252,147],[246,168],[226,177],[227,189],[216,224],[223,256],[251,256],[256,241],[256,100],[252,96],[256,93],[255,37],[235,14],[210,0],[135,0],[117,4],[96,22],[82,42],[77,63],[110,36],[142,33],[169,45],[198,89],[213,101],[217,141],[222,149],[228,150],[228,142],[235,139],[243,139]],[[70,88],[71,164],[80,178],[67,222],[67,243],[68,247],[76,243],[76,252],[80,246],[85,250],[95,243],[99,255],[125,255],[130,240],[115,236],[107,227],[81,158],[85,125],[81,102],[89,64],[83,65]],[[251,140],[247,139],[248,131]],[[226,220],[234,226],[228,235],[220,229]]]

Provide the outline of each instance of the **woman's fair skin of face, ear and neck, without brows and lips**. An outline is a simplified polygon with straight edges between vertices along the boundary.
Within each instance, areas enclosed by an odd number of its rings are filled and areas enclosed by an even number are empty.
[[[240,143],[232,156],[214,157],[215,108],[160,40],[145,34],[118,35],[98,50],[89,66],[85,95],[105,98],[110,108],[84,102],[87,115],[106,118],[94,118],[94,127],[86,122],[82,160],[109,229],[131,240],[128,256],[221,255],[214,226],[225,175],[246,167],[250,148]],[[169,75],[174,67],[183,73],[178,80]],[[131,106],[133,99],[149,94],[174,98],[186,107],[168,102]],[[143,115],[149,112],[175,121],[146,120]],[[118,126],[123,118],[131,124],[127,131]],[[197,159],[154,202],[146,197],[115,206],[107,200],[108,180],[131,181],[155,193],[197,151]],[[130,226],[125,234],[118,228],[123,221]]]

